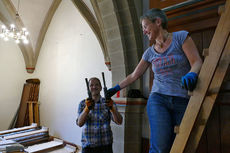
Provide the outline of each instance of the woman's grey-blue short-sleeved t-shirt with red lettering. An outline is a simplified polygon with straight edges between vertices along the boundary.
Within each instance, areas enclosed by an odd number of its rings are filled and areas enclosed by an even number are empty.
[[[144,52],[142,59],[152,64],[154,72],[151,93],[189,97],[188,91],[181,87],[181,77],[188,73],[191,68],[182,49],[187,36],[187,31],[173,32],[172,42],[164,53],[157,53],[153,46]]]

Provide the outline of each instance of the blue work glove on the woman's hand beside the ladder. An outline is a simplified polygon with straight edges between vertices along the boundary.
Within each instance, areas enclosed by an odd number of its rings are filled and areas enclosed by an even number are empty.
[[[182,88],[193,91],[196,87],[198,75],[195,72],[189,72],[181,78]]]

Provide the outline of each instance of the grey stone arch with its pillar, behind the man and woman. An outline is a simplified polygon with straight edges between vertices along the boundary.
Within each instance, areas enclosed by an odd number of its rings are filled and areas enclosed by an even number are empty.
[[[138,64],[143,53],[142,36],[134,1],[91,0],[96,18],[86,11],[82,0],[73,0],[85,17],[103,50],[105,63],[111,66],[113,85],[123,80]],[[141,3],[141,1],[139,1]],[[97,24],[97,25],[95,25]],[[142,90],[142,80],[126,88]],[[142,114],[145,100],[126,98],[126,90],[115,98],[118,110],[123,115],[123,124],[112,124],[114,152],[141,152]]]

